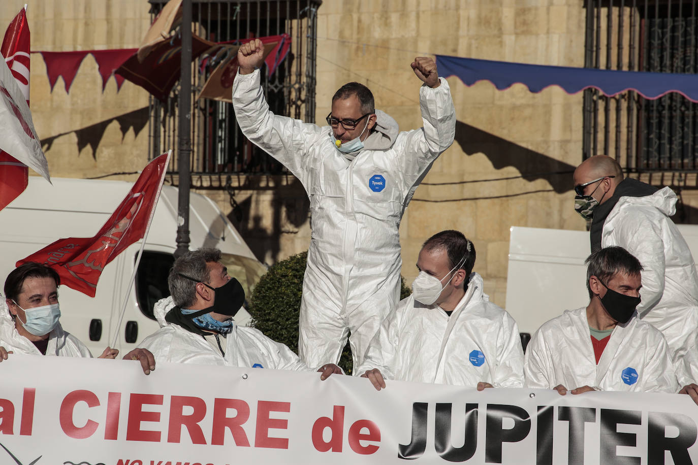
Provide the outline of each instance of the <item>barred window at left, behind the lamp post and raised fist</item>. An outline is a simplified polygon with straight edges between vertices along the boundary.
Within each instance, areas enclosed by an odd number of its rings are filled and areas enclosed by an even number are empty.
[[[152,20],[167,1],[149,0]],[[192,0],[193,33],[216,43],[288,34],[291,38],[288,55],[272,76],[262,73],[262,88],[275,114],[315,121],[316,13],[320,3],[320,0]],[[209,77],[206,67],[201,66],[204,58],[197,59],[192,68],[191,173],[285,171],[279,162],[242,135],[232,105],[196,99]],[[177,148],[178,91],[179,85],[166,102],[150,98],[150,158]],[[176,151],[168,171],[177,172]]]

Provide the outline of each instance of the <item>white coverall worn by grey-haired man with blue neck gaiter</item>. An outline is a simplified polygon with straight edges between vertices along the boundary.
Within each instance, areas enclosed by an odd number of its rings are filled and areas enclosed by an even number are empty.
[[[164,304],[164,305],[163,305]],[[159,300],[154,307],[156,317],[174,307],[172,298]],[[225,365],[228,367],[256,367],[295,369],[314,372],[284,344],[274,342],[260,330],[235,325],[226,337],[225,358],[198,334],[191,333],[177,324],[170,324],[158,317],[164,326],[146,337],[140,347],[155,356],[156,363],[197,363],[199,365]],[[223,337],[223,336],[221,336]]]

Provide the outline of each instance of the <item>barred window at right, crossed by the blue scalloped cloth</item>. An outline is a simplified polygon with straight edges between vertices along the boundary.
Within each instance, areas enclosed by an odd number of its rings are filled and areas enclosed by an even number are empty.
[[[696,74],[696,0],[586,0],[585,66]],[[698,169],[698,104],[680,93],[584,93],[584,158],[614,156],[628,171]]]

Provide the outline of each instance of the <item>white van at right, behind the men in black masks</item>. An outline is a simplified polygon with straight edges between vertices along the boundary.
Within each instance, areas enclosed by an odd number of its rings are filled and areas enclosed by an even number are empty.
[[[693,257],[698,257],[698,225],[676,226]],[[591,254],[588,231],[514,226],[510,232],[506,310],[521,333],[533,335],[565,310],[588,305],[584,265]]]

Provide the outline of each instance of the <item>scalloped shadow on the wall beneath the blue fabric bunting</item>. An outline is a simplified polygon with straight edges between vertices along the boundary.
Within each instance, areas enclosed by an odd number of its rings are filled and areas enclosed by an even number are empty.
[[[462,121],[456,121],[456,142],[468,155],[484,153],[496,169],[514,167],[521,173],[521,176],[464,181],[463,183],[514,178],[522,178],[529,182],[544,179],[558,194],[572,190],[572,173],[576,167],[568,163],[514,144],[514,142]]]

